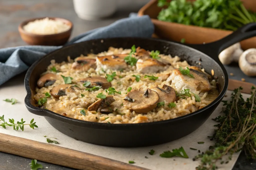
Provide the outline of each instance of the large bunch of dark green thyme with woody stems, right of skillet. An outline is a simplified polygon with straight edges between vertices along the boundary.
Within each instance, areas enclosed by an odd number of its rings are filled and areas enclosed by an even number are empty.
[[[241,95],[242,88],[235,89],[231,101],[222,101],[226,106],[224,115],[216,117],[219,122],[212,139],[216,141],[204,154],[193,160],[201,159],[197,170],[215,170],[216,163],[228,163],[232,154],[244,150],[248,158],[256,159],[256,92],[252,87],[251,96],[245,101]],[[228,155],[224,160],[223,156]]]

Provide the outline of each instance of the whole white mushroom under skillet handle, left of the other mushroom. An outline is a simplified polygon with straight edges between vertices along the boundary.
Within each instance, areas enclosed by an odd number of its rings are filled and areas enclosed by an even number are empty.
[[[236,43],[219,54],[219,60],[222,64],[230,64],[232,61],[238,62],[239,57],[243,53],[240,43]]]

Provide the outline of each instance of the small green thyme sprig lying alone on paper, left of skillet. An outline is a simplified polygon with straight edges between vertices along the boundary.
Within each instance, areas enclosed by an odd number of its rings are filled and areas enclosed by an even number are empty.
[[[3,121],[3,123],[1,121]],[[38,127],[36,125],[36,122],[34,122],[34,119],[32,119],[30,121],[30,124],[24,124],[25,121],[23,121],[23,119],[21,119],[20,122],[17,121],[17,123],[14,122],[14,119],[9,119],[9,122],[10,122],[10,124],[4,120],[4,115],[0,116],[0,123],[2,123],[2,124],[0,124],[0,126],[2,126],[5,129],[6,129],[6,126],[12,126],[13,130],[19,130],[20,129],[20,130],[24,131],[24,125],[29,125],[29,127],[31,127],[32,129],[34,129],[35,127]]]

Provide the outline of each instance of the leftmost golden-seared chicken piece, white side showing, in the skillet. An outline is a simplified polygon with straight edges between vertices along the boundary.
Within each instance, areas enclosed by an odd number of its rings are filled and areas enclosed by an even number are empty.
[[[127,57],[127,54],[116,54],[110,56],[102,56],[96,57],[97,69],[96,71],[100,71],[103,69],[104,71],[110,70],[120,70],[127,68],[127,64],[124,61],[124,58]]]

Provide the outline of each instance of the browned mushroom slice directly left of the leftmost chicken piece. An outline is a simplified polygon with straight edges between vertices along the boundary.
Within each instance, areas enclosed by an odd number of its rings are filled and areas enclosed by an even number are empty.
[[[76,61],[72,64],[72,69],[87,71],[90,68],[96,69],[96,59],[89,57],[78,57]]]

